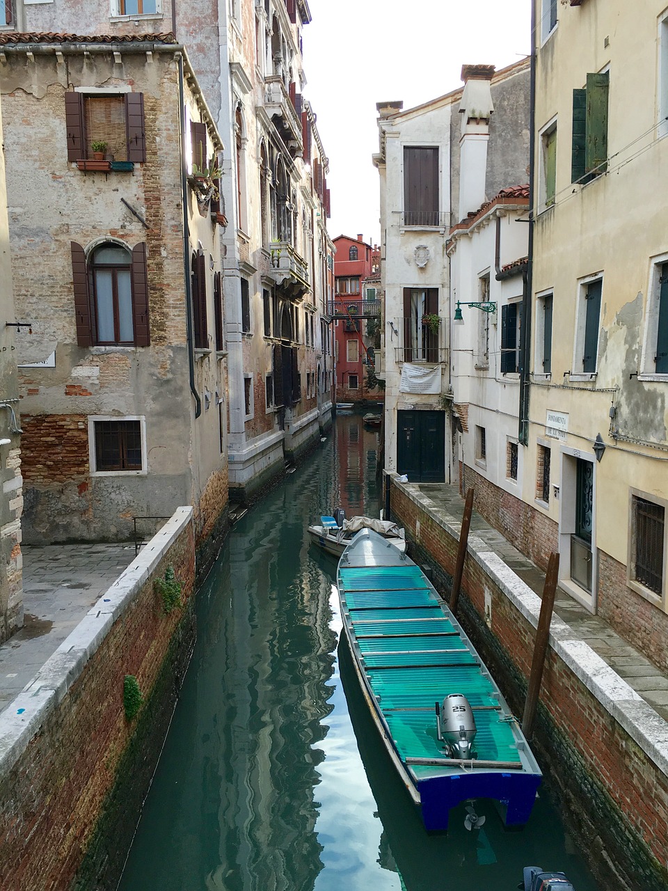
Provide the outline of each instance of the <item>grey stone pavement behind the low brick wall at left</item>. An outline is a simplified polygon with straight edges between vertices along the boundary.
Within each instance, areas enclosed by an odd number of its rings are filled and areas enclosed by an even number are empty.
[[[0,646],[0,711],[134,560],[134,544],[24,545],[25,624]]]

